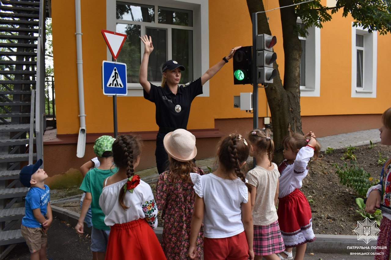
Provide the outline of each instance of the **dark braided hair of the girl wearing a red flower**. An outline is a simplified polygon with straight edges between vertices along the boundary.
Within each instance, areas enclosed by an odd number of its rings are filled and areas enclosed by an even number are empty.
[[[113,143],[113,161],[117,167],[125,168],[127,178],[135,175],[133,166],[134,159],[141,154],[142,141],[140,137],[133,135],[118,135]],[[129,206],[125,204],[126,198],[126,183],[121,187],[118,195],[118,203],[124,210]]]

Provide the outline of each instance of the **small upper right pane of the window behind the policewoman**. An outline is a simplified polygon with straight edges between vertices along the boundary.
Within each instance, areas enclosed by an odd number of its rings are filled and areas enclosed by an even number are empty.
[[[171,25],[193,26],[193,13],[189,10],[159,6],[158,22]]]

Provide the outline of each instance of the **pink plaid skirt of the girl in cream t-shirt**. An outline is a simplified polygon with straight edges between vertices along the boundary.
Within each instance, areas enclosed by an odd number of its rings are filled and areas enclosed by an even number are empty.
[[[271,255],[285,250],[278,220],[266,225],[254,225],[253,249],[255,255]]]

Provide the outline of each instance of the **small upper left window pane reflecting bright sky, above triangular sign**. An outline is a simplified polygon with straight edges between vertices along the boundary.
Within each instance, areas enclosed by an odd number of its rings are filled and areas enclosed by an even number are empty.
[[[117,2],[117,19],[154,23],[154,7],[152,5]]]

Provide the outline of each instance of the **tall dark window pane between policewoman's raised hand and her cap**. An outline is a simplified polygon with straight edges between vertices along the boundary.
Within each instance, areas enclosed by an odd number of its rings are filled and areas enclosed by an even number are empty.
[[[148,36],[152,37],[153,52],[149,55],[148,62],[148,80],[160,82],[161,68],[167,61],[167,30],[160,28],[145,28]]]

